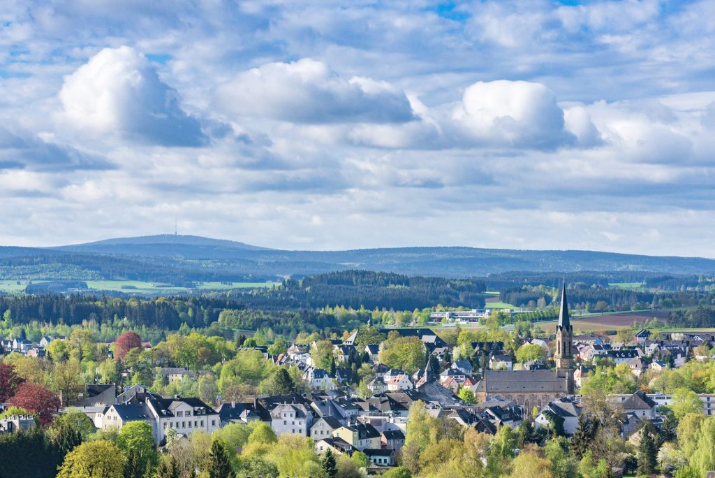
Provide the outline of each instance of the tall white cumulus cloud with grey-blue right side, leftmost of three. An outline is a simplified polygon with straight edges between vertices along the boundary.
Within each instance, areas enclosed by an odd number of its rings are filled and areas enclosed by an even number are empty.
[[[117,132],[164,146],[199,146],[207,138],[152,64],[131,47],[106,48],[64,78],[64,117],[78,129]]]

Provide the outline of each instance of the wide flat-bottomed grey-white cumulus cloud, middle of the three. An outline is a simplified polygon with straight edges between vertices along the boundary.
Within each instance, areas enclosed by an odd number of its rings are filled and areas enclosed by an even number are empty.
[[[269,63],[238,74],[216,92],[239,116],[295,123],[394,123],[414,119],[405,93],[386,82],[345,78],[312,59]]]

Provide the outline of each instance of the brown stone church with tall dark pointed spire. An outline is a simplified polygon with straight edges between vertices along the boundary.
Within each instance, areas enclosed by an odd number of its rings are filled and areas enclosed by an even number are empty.
[[[573,326],[568,318],[566,283],[561,288],[561,311],[556,326],[556,370],[488,370],[476,387],[480,402],[498,396],[524,407],[541,409],[548,402],[573,395]]]

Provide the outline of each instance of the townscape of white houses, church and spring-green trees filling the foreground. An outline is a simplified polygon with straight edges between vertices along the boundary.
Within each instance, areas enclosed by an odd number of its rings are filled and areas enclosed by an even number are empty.
[[[372,319],[340,336],[1,342],[2,476],[701,476],[715,333]],[[6,312],[5,320],[12,321]],[[466,320],[466,319],[465,319]],[[87,325],[87,324],[86,324]],[[465,327],[465,328],[463,328]],[[518,329],[518,330],[517,330]],[[37,459],[37,454],[41,459]],[[90,475],[95,476],[95,475]],[[99,475],[97,475],[99,476]]]

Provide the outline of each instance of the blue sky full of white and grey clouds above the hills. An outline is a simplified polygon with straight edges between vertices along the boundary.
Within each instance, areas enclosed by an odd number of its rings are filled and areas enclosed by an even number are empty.
[[[1,245],[715,257],[714,0],[2,3]]]

